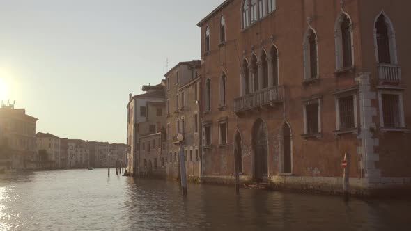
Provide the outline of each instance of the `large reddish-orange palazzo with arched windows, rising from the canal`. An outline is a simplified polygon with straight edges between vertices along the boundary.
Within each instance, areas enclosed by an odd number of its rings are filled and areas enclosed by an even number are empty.
[[[408,1],[227,0],[199,22],[202,180],[411,184]]]

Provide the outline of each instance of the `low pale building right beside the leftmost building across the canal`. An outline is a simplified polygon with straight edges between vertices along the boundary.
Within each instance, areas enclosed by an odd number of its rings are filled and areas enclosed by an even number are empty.
[[[61,168],[61,138],[49,133],[36,134],[38,161],[47,162],[47,167]],[[51,164],[51,165],[50,165]],[[41,166],[39,166],[41,167]]]

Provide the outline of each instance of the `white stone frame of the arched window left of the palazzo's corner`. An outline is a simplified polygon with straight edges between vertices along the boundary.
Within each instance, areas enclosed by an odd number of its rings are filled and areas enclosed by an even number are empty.
[[[352,23],[352,18],[344,10],[341,10],[339,17],[337,17],[334,25],[334,40],[335,40],[335,69],[336,72],[341,72],[344,69],[343,64],[343,35],[341,31],[342,19],[346,16],[350,20],[350,37],[351,37],[351,67],[346,67],[352,69],[355,67],[355,55],[354,55],[354,24]]]

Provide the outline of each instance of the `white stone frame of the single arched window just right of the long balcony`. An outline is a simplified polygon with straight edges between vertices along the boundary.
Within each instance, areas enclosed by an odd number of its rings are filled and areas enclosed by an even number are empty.
[[[317,76],[315,78],[311,78],[311,53],[310,53],[310,36],[313,33],[316,34],[316,50],[317,50]],[[318,51],[318,33],[315,29],[309,24],[307,31],[304,33],[304,39],[302,42],[302,49],[303,49],[303,62],[304,62],[304,81],[310,81],[312,79],[319,79],[320,78],[320,53]]]

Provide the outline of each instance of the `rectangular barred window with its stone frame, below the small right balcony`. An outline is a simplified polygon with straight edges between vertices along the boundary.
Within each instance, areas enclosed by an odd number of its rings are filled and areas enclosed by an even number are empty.
[[[380,102],[380,123],[383,128],[405,127],[403,95],[396,91],[378,93]]]

